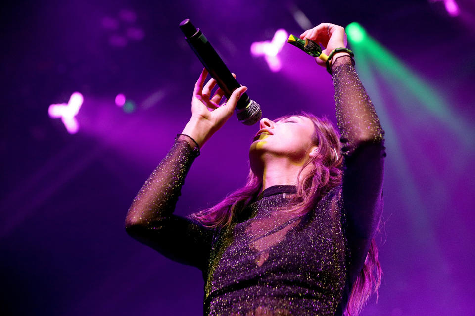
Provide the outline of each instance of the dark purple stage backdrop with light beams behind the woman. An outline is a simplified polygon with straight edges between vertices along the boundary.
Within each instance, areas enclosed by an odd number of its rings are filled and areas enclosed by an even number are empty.
[[[263,117],[303,109],[336,121],[331,77],[312,58],[286,44],[282,70],[271,72],[250,55],[252,42],[279,28],[301,34],[299,10],[312,25],[359,22],[424,83],[411,90],[413,81],[392,77],[371,54],[356,56],[387,147],[384,276],[378,303],[373,296],[361,315],[473,315],[475,4],[457,3],[455,17],[427,0],[4,4],[0,312],[202,313],[200,271],[124,229],[133,198],[191,115],[202,66],[178,24],[190,18],[201,28]],[[363,60],[370,73],[359,68]],[[48,107],[75,91],[84,103],[79,132],[69,134]],[[115,105],[118,93],[130,111]],[[257,129],[233,116],[206,143],[177,214],[212,206],[244,184]]]

